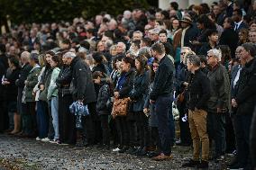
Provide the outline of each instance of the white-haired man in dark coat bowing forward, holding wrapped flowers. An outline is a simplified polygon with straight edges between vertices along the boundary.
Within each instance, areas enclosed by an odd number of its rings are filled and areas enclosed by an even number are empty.
[[[93,83],[90,67],[82,58],[78,58],[75,53],[67,52],[63,58],[67,59],[67,64],[72,69],[72,95],[74,101],[87,104],[88,115],[84,121],[84,145],[93,145],[96,142],[96,133],[93,121],[96,121],[96,92]]]

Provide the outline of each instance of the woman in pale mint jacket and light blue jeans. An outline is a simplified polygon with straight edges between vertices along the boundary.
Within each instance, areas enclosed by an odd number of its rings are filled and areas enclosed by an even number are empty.
[[[50,104],[50,112],[52,117],[52,125],[54,129],[54,138],[52,143],[59,143],[59,102],[58,102],[58,88],[56,85],[56,79],[59,76],[60,59],[58,55],[54,55],[50,59],[50,67],[52,68],[52,74],[50,76],[50,85],[47,92],[47,100]]]

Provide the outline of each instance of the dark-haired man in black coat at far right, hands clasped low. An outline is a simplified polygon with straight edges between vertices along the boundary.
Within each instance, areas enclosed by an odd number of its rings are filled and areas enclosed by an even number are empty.
[[[239,164],[233,168],[251,169],[249,136],[251,128],[252,112],[256,104],[256,49],[254,44],[244,43],[241,49],[241,58],[245,60],[242,75],[239,78],[237,94],[232,100],[232,106],[236,109],[236,126],[234,127],[237,139],[237,157]]]

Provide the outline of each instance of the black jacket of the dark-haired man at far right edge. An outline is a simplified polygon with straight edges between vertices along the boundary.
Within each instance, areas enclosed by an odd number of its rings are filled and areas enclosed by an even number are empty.
[[[238,91],[235,98],[237,114],[251,115],[256,104],[256,59],[253,58],[242,68]]]

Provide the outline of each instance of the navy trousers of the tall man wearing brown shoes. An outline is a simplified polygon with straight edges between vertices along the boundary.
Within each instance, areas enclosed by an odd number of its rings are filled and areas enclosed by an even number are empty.
[[[171,142],[172,133],[174,127],[172,126],[174,123],[173,115],[172,115],[172,96],[164,95],[159,96],[156,100],[156,114],[158,117],[158,126],[159,126],[159,135],[160,135],[160,145],[161,152],[169,156],[171,153]]]

